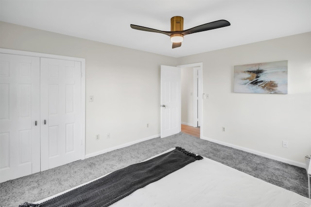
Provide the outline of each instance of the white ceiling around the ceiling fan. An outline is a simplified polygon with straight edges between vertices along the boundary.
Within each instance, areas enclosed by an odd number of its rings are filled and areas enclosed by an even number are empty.
[[[170,37],[133,30],[130,24],[170,31],[219,19],[231,26]],[[303,32],[311,32],[311,0],[0,0],[0,21],[157,54],[183,57]]]

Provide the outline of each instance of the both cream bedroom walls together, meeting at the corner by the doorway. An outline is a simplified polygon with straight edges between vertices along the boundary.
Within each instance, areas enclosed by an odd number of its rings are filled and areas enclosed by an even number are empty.
[[[88,155],[157,136],[160,65],[199,62],[209,94],[204,139],[298,166],[311,154],[311,32],[177,59],[4,22],[0,37],[0,48],[86,59],[86,99],[94,96],[86,101]],[[288,60],[288,95],[233,93],[234,65],[280,60]]]

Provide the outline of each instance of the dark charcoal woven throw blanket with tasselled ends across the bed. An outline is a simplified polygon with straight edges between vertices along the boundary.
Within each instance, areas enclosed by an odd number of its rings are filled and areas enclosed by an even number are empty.
[[[203,157],[176,147],[171,152],[122,168],[41,204],[26,202],[19,207],[107,207],[198,159]]]

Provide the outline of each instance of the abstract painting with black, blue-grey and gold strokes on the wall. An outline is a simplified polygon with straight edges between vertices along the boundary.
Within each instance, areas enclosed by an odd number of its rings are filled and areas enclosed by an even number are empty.
[[[287,61],[235,65],[234,92],[287,94]]]

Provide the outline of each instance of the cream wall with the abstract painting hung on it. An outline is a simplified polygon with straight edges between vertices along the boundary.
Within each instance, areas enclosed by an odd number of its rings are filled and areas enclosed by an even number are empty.
[[[282,60],[288,61],[287,95],[233,93],[234,65]],[[209,94],[203,99],[204,139],[304,163],[311,154],[311,32],[178,59],[197,62],[203,62],[203,93]]]

